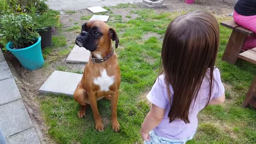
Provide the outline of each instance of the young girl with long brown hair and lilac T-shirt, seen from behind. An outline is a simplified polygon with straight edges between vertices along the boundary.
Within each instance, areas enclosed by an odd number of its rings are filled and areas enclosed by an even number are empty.
[[[186,143],[193,139],[197,114],[225,100],[220,71],[214,67],[219,25],[208,12],[173,20],[162,49],[162,73],[147,98],[152,102],[140,130],[145,143]]]

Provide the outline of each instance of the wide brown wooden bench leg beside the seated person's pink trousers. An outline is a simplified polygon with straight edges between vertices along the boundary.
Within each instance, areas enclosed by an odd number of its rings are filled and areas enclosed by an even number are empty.
[[[246,38],[246,34],[240,33],[239,31],[233,29],[229,37],[226,50],[222,56],[222,60],[231,64],[235,64],[238,54],[241,52]]]

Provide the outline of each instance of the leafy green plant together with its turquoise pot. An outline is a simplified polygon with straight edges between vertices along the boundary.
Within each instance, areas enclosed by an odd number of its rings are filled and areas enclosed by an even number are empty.
[[[27,14],[5,14],[1,18],[0,36],[9,50],[28,70],[43,67],[41,37],[35,31],[35,22]]]

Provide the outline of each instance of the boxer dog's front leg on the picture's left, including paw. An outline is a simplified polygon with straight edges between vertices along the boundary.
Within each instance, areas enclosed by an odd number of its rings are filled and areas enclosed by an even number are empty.
[[[92,108],[92,111],[93,111],[93,117],[94,117],[94,121],[95,121],[95,129],[97,131],[104,131],[104,125],[102,123],[102,119],[100,117],[100,113],[99,113],[99,110],[98,110],[97,97],[96,97],[95,92],[90,92],[89,93],[89,101],[90,101],[91,108]]]

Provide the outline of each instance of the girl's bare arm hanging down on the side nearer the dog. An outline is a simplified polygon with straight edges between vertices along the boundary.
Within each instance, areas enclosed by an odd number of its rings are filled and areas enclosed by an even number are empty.
[[[159,108],[152,104],[150,111],[148,112],[144,122],[141,125],[140,134],[141,137],[148,141],[150,139],[149,132],[153,130],[163,119],[165,109]]]

